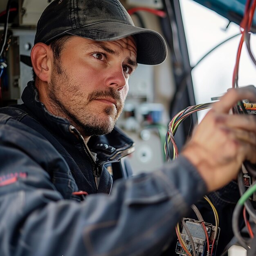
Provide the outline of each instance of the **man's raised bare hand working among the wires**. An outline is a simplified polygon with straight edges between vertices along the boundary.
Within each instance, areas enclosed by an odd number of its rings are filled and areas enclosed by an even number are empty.
[[[213,104],[182,151],[198,169],[209,191],[236,178],[244,160],[256,163],[256,116],[229,114],[242,99],[256,102],[256,88],[230,89]]]

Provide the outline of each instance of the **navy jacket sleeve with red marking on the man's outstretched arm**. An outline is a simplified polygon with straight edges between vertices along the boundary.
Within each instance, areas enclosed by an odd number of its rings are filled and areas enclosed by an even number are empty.
[[[182,156],[81,203],[63,198],[54,171],[70,172],[40,134],[13,119],[0,125],[1,256],[158,255],[206,193]]]

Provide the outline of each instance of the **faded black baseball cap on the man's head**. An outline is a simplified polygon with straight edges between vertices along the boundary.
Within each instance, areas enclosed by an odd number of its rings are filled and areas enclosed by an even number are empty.
[[[49,45],[66,34],[96,41],[132,35],[137,43],[137,62],[141,64],[160,64],[167,55],[164,38],[156,31],[135,27],[119,0],[54,0],[38,21],[34,43]]]

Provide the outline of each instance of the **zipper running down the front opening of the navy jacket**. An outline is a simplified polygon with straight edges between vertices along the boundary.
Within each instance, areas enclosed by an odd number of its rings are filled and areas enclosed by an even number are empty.
[[[99,178],[99,167],[97,166],[96,162],[94,161],[92,153],[90,152],[90,149],[88,148],[87,144],[85,143],[85,140],[84,140],[83,136],[80,134],[80,132],[78,130],[76,130],[76,128],[72,125],[69,127],[69,130],[71,133],[73,133],[77,137],[77,139],[82,141],[83,150],[84,150],[85,154],[88,156],[88,158],[92,164],[94,182],[95,182],[96,188],[98,190],[97,179]]]

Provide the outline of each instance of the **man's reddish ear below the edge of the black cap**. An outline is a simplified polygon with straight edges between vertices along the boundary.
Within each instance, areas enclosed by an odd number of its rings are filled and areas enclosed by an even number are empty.
[[[48,45],[37,43],[31,50],[31,62],[36,76],[41,81],[49,82],[52,73],[52,51]]]

